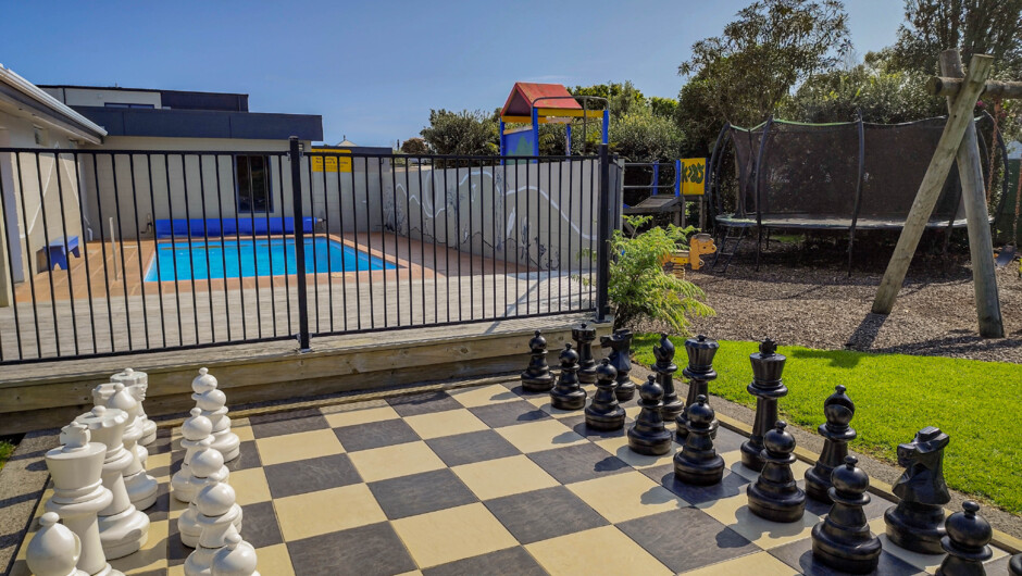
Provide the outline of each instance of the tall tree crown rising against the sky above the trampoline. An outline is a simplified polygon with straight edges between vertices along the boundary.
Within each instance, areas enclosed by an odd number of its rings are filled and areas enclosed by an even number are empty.
[[[678,66],[706,83],[712,95],[706,103],[720,121],[763,120],[794,86],[836,67],[851,49],[839,0],[758,0],[737,16],[721,36],[693,45]]]

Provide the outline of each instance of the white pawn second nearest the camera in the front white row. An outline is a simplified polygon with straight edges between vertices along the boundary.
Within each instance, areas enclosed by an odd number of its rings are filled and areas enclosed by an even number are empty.
[[[213,556],[227,546],[230,534],[238,534],[234,523],[241,515],[241,506],[236,502],[234,488],[223,483],[219,472],[210,479],[212,481],[196,494],[202,535],[195,552],[185,561],[185,576],[210,576]]]

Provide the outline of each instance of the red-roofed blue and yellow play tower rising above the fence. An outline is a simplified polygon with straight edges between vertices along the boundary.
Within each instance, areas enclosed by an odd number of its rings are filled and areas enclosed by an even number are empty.
[[[578,103],[578,101],[582,103]],[[589,102],[603,103],[602,110],[590,110]],[[541,105],[540,105],[541,104]],[[500,110],[500,155],[538,156],[539,125],[564,124],[564,155],[571,155],[572,121],[582,118],[583,141],[589,120],[600,121],[601,143],[608,143],[610,111],[607,99],[595,96],[572,96],[563,85],[514,83],[508,100]],[[527,126],[508,128],[508,124]]]

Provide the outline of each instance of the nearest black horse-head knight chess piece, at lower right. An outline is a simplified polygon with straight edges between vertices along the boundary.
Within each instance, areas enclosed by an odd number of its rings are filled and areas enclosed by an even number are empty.
[[[906,469],[894,493],[901,500],[884,512],[884,521],[887,538],[906,550],[944,552],[944,504],[951,500],[944,481],[944,448],[949,441],[939,428],[926,426],[910,443],[898,446],[898,464]]]

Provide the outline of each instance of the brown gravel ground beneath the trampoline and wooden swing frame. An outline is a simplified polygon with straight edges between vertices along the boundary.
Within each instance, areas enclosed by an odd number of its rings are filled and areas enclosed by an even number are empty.
[[[716,310],[716,316],[696,318],[693,331],[728,340],[769,336],[783,345],[827,350],[1022,363],[1018,262],[997,271],[1007,335],[999,339],[979,337],[968,254],[918,258],[889,316],[870,312],[886,262],[857,262],[850,277],[844,262],[844,253],[833,248],[772,242],[759,272],[747,252],[723,274],[689,271],[688,279],[706,290]]]

